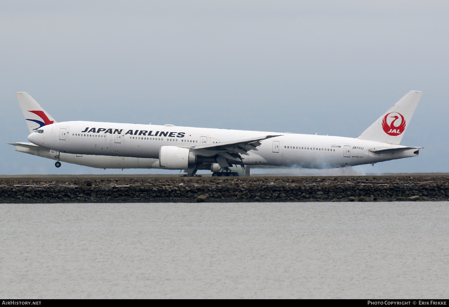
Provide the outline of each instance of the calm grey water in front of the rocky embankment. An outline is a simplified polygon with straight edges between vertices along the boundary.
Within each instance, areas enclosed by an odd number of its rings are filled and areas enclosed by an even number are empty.
[[[449,203],[0,204],[3,298],[448,298]]]

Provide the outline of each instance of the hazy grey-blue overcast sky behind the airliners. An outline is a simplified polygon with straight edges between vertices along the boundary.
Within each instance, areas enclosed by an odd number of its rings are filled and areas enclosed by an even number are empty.
[[[419,90],[401,145],[426,149],[357,170],[447,172],[448,16],[448,1],[3,0],[0,174],[150,172],[15,152],[22,91],[58,122],[355,137]]]

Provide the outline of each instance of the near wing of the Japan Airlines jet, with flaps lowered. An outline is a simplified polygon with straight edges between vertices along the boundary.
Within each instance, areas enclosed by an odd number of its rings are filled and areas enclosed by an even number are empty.
[[[281,135],[277,135],[281,136]],[[188,147],[194,150],[195,153],[204,157],[214,157],[220,167],[229,167],[231,164],[239,164],[243,166],[243,158],[241,155],[249,156],[248,151],[259,150],[257,146],[260,146],[261,141],[270,139],[276,136],[259,136],[251,139],[235,140],[222,143],[213,143],[199,146]]]

